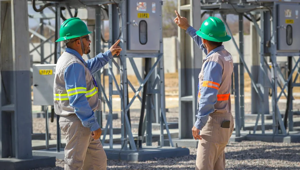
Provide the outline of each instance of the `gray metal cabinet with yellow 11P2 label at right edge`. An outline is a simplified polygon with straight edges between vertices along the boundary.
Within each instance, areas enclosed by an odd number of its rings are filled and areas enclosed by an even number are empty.
[[[277,49],[300,50],[299,4],[277,4]]]

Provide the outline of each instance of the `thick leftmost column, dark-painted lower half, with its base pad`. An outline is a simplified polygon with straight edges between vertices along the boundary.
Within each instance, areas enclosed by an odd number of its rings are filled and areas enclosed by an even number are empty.
[[[24,44],[29,42],[24,36],[28,31],[26,4],[0,1],[0,169],[55,166],[54,157],[32,156],[29,44]]]

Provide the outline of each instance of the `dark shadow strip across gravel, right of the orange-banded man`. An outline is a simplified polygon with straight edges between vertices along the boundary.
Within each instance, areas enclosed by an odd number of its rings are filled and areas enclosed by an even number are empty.
[[[228,151],[225,156],[227,160],[270,159],[292,162],[298,162],[300,160],[300,153],[286,146],[265,146],[263,148],[253,148],[242,151]]]

